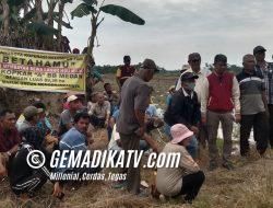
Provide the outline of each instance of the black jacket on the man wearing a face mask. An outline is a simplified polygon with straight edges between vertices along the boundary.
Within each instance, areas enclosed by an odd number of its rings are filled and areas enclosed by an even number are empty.
[[[164,120],[173,126],[175,124],[183,124],[188,128],[197,126],[201,120],[200,104],[198,95],[193,92],[193,96],[185,96],[182,88],[171,97],[170,105],[164,114]]]

